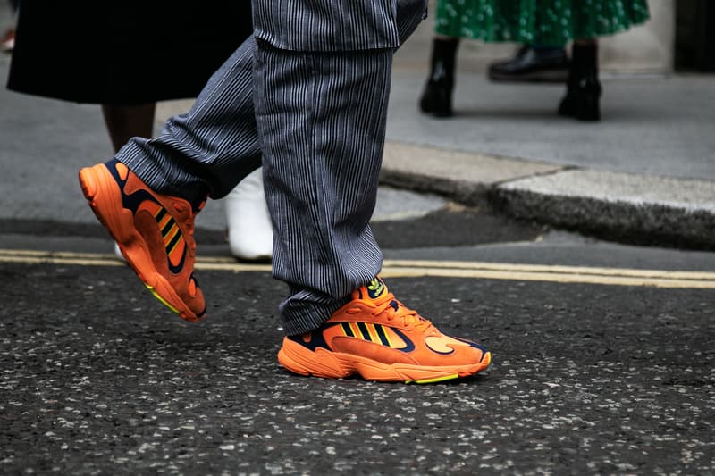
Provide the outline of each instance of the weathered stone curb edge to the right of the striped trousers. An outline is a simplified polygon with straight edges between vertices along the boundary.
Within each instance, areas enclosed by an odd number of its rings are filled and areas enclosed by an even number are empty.
[[[715,183],[389,142],[381,181],[629,243],[715,249]]]

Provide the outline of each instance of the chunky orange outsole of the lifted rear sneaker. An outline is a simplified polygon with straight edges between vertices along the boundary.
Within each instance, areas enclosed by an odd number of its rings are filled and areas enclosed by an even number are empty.
[[[156,271],[149,246],[134,226],[134,214],[114,204],[122,203],[122,191],[104,164],[87,167],[80,171],[80,187],[89,207],[105,226],[122,250],[131,269],[137,273],[149,292],[163,305],[189,322],[200,321],[206,313],[195,313],[176,294],[164,276]]]

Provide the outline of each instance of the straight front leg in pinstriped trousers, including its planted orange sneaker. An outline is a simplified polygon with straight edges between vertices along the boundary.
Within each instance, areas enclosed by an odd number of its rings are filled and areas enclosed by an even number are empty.
[[[278,360],[290,372],[428,383],[473,375],[491,362],[484,347],[442,334],[377,278],[382,254],[369,220],[393,53],[257,44],[273,274],[290,288]]]

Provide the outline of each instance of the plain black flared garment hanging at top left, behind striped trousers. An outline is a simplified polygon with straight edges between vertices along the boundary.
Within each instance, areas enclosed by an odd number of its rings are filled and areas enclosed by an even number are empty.
[[[251,31],[249,0],[22,0],[7,88],[96,104],[192,98]]]

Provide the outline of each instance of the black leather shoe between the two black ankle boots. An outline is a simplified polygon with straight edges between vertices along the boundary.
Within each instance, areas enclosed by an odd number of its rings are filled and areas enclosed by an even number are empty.
[[[526,81],[565,83],[568,79],[568,56],[564,48],[522,46],[507,61],[489,66],[492,81]]]

